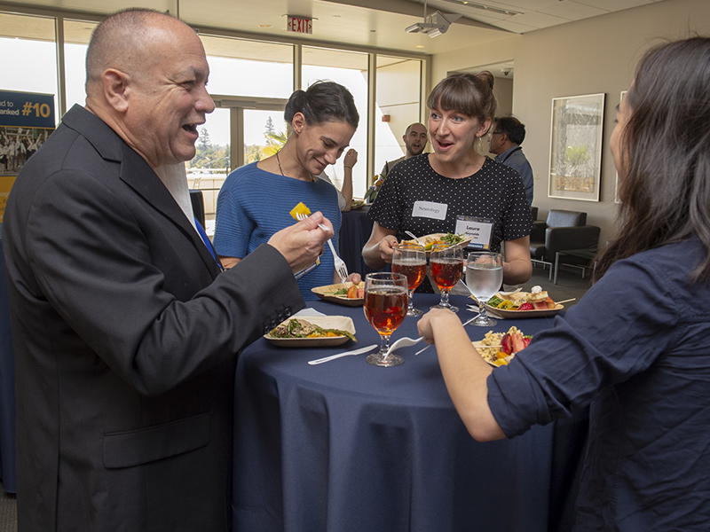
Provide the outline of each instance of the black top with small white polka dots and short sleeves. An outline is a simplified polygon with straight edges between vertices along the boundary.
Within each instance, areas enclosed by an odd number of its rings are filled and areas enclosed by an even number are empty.
[[[414,216],[416,201],[446,205],[446,219]],[[383,228],[398,231],[400,241],[409,239],[404,231],[417,237],[455,232],[458,215],[492,220],[491,251],[495,252],[501,251],[502,241],[522,239],[534,226],[523,179],[516,170],[486,157],[472,176],[452,179],[431,168],[428,153],[391,169],[368,215]]]

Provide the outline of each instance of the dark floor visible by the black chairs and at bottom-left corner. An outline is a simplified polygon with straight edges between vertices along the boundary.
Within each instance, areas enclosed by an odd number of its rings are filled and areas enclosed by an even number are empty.
[[[555,301],[564,301],[575,298],[575,301],[564,303],[564,308],[569,309],[572,305],[580,301],[582,295],[587,292],[590,286],[590,279],[581,278],[581,271],[577,269],[560,267],[557,272],[557,284],[553,285],[549,280],[549,268],[542,270],[540,266],[533,268],[533,278],[522,285],[525,292],[538,285],[543,290],[547,290],[549,296]],[[9,493],[5,493],[0,482],[0,532],[17,532],[17,498]]]

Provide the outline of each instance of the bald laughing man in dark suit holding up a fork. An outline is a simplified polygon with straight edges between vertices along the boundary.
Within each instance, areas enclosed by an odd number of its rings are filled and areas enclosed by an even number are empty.
[[[304,307],[294,272],[332,226],[316,213],[220,273],[183,162],[215,108],[199,37],[118,12],[86,70],[4,214],[18,529],[225,532],[237,354]]]

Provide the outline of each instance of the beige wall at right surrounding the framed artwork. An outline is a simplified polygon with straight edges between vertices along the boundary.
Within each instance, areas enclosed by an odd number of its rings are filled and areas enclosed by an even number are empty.
[[[535,174],[533,205],[540,208],[540,218],[550,208],[587,212],[588,223],[602,227],[604,242],[614,231],[617,211],[609,138],[620,91],[628,88],[644,51],[664,40],[696,34],[710,35],[710,2],[664,0],[438,54],[432,59],[432,71],[438,80],[449,71],[514,59],[513,113],[527,131],[523,148]],[[598,92],[606,94],[600,201],[548,198],[552,98]]]

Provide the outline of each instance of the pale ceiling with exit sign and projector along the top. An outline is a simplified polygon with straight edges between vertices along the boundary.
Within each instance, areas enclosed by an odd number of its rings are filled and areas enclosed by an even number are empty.
[[[195,27],[273,35],[276,39],[293,37],[286,31],[286,15],[290,14],[313,18],[312,35],[300,35],[306,42],[434,54],[662,0],[476,0],[469,5],[464,1],[428,0],[427,12],[462,15],[446,34],[433,39],[405,32],[405,27],[423,20],[424,0],[15,0],[14,4],[100,14],[140,4],[177,13]],[[0,3],[0,10],[9,5]]]

